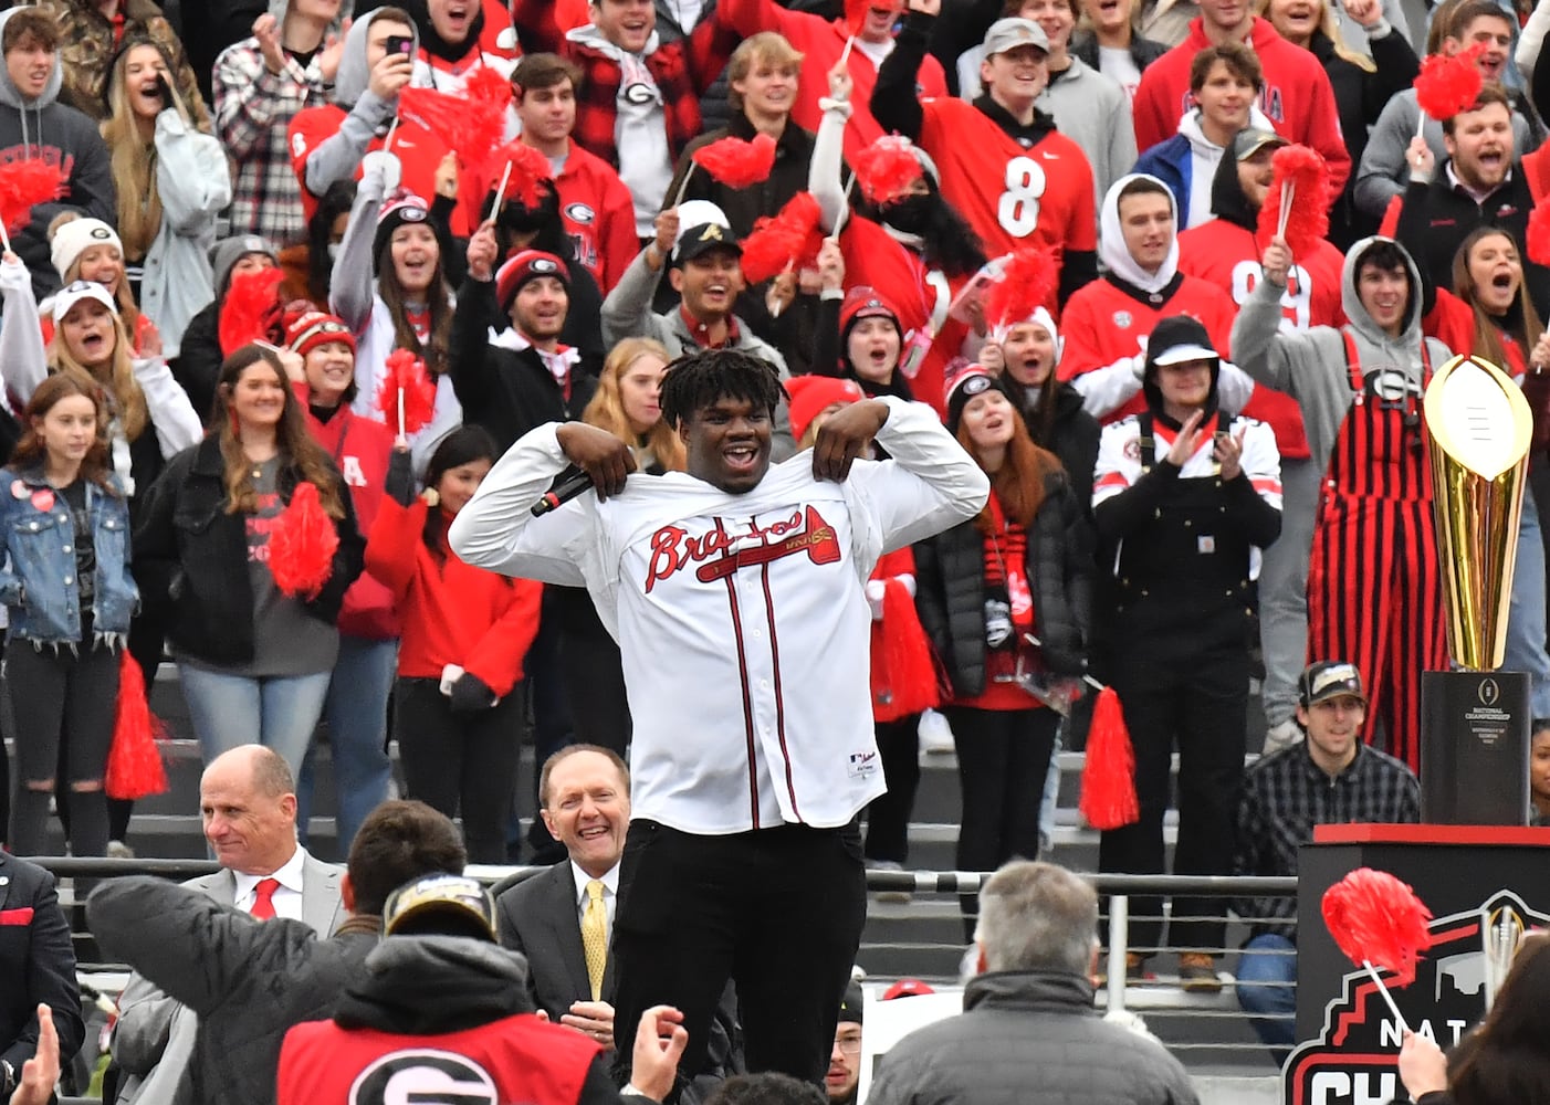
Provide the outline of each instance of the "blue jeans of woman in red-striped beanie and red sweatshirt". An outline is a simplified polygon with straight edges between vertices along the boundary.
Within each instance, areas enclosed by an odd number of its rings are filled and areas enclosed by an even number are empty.
[[[329,680],[322,716],[329,722],[333,752],[335,828],[339,860],[361,821],[388,800],[392,761],[388,758],[388,696],[398,668],[397,640],[367,640],[339,634],[339,659]],[[312,817],[313,759],[307,752],[296,781],[298,821],[305,829]],[[307,840],[305,831],[302,840]]]

